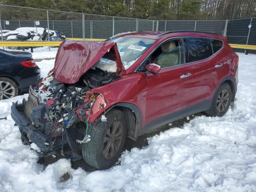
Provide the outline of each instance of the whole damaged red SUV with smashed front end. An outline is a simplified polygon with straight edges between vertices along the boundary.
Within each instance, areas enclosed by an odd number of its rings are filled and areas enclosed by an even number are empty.
[[[22,139],[40,156],[64,146],[71,160],[112,166],[126,137],[234,101],[238,56],[226,37],[204,32],[132,32],[104,42],[65,40],[54,68],[28,100],[12,105]]]

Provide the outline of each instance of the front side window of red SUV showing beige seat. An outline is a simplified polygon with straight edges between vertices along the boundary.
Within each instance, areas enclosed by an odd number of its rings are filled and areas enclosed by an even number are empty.
[[[165,42],[157,48],[146,60],[145,64],[158,63],[161,68],[167,68],[184,63],[184,51],[181,40]]]

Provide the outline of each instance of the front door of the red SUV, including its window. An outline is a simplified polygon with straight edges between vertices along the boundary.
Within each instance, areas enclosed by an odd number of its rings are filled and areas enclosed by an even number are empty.
[[[176,43],[176,51],[167,50],[166,52],[166,55],[169,53],[171,55],[167,56],[167,58],[171,58],[169,66],[162,56],[164,44],[150,56],[153,57],[150,59],[151,62],[161,64],[162,67],[156,75],[146,72],[148,86],[146,94],[146,124],[189,106],[192,70],[190,64],[184,64],[182,40],[174,41]],[[174,62],[174,54],[178,55],[178,62]]]

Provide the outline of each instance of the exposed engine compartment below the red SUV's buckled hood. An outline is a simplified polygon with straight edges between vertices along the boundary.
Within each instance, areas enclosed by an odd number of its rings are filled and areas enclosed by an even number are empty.
[[[58,134],[63,131],[64,126],[70,128],[79,122],[76,110],[83,106],[88,91],[118,78],[115,73],[95,68],[88,70],[76,84],[63,84],[50,74],[39,84],[38,89],[34,89],[42,103],[34,107],[29,116],[36,127],[44,129],[45,134]],[[94,98],[91,101],[95,100],[95,96],[92,94]],[[85,110],[89,108],[90,106],[83,106]]]

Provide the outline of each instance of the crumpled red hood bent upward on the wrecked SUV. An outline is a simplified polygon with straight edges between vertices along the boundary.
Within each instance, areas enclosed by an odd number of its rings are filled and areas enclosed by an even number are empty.
[[[106,58],[116,62],[117,72],[124,70],[116,42],[64,40],[58,48],[52,70],[54,78],[62,83],[76,83],[107,52]]]

